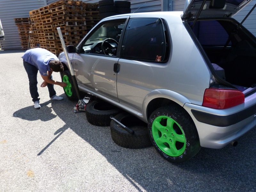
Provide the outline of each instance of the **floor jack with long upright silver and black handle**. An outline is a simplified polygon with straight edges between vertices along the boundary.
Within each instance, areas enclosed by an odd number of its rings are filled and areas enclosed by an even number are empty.
[[[63,39],[60,27],[57,27],[57,31],[58,31],[58,34],[60,36],[60,42],[61,42],[63,51],[64,51],[64,53],[66,55],[66,59],[67,59],[67,62],[68,62],[68,69],[70,71],[71,78],[72,78],[72,81],[74,83],[74,87],[75,87],[76,94],[77,94],[77,97],[78,97],[78,103],[76,105],[76,109],[77,110],[85,111],[86,103],[84,102],[84,100],[81,99],[79,88],[78,88],[78,84],[77,84],[76,77],[75,77],[75,73],[74,73],[74,70],[73,70],[73,68],[71,66],[71,62],[69,60],[69,57],[68,57],[68,52],[67,52],[67,49],[66,49],[66,45],[65,45],[65,42],[64,42],[64,39]]]

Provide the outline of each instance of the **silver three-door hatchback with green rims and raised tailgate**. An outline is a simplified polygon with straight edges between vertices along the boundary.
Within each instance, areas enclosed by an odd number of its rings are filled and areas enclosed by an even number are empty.
[[[192,0],[184,12],[101,20],[67,47],[80,91],[148,123],[168,161],[223,148],[256,125],[256,38],[231,18],[249,2]],[[59,59],[72,99],[63,52]]]

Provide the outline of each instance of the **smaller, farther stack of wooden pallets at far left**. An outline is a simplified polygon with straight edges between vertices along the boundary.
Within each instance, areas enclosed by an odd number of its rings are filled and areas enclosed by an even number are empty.
[[[26,18],[14,18],[14,22],[18,27],[18,32],[21,41],[21,48],[27,49],[28,48],[28,37],[29,37],[29,29],[31,26],[30,19]]]

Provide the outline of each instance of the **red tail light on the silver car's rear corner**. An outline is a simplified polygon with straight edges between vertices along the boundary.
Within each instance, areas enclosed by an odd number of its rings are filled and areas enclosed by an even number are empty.
[[[244,103],[244,93],[238,90],[209,88],[204,91],[204,107],[226,109],[241,103]]]

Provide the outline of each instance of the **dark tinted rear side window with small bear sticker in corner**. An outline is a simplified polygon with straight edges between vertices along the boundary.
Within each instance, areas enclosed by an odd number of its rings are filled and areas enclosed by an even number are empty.
[[[130,19],[124,33],[121,58],[163,61],[167,46],[164,30],[160,18]]]

